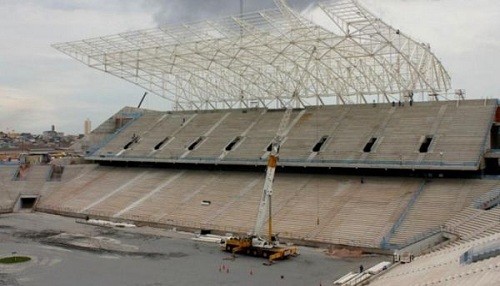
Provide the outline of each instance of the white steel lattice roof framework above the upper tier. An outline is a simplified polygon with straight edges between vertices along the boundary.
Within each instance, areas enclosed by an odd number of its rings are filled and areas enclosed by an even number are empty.
[[[436,99],[450,77],[429,45],[355,0],[319,2],[311,20],[277,8],[55,44],[177,110]],[[293,96],[293,94],[298,96]]]

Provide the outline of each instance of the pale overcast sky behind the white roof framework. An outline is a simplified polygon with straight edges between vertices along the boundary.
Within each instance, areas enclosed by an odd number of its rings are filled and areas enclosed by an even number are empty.
[[[309,0],[289,1],[304,9]],[[499,0],[360,0],[385,22],[430,43],[467,98],[496,98],[500,85]],[[51,44],[239,13],[239,0],[0,0],[0,131],[82,133],[144,89],[91,69]],[[273,8],[246,0],[246,12]],[[146,108],[167,108],[154,95]]]

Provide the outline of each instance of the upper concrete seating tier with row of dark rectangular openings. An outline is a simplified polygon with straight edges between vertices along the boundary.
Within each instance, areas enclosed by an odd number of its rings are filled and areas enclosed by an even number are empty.
[[[280,157],[285,165],[475,170],[495,109],[493,100],[308,107],[293,112]],[[114,156],[153,162],[265,164],[262,156],[284,114],[265,109],[143,112],[101,147],[97,154],[104,156],[102,160]],[[124,150],[133,135],[138,142]],[[324,136],[319,152],[313,152]],[[240,137],[238,143],[226,151],[236,137]],[[371,150],[365,150],[372,138],[376,140]],[[432,138],[430,145],[420,152],[426,138]],[[197,140],[195,148],[188,150]]]

